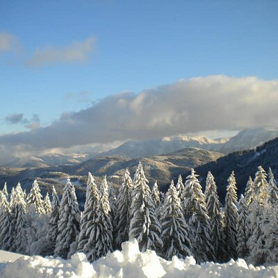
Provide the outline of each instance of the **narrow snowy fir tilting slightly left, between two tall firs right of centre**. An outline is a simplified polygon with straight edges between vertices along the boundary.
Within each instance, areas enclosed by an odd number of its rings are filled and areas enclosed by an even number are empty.
[[[222,229],[223,220],[221,213],[221,203],[219,201],[217,186],[213,174],[208,172],[206,177],[206,190],[204,192],[206,208],[208,210],[209,222],[211,225],[211,243],[214,247],[215,258],[220,261],[223,256]]]

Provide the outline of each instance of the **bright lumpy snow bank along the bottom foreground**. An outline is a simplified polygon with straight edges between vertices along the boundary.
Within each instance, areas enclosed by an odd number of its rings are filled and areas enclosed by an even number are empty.
[[[14,262],[2,263],[1,278],[37,277],[278,277],[278,266],[254,268],[244,260],[229,263],[204,263],[196,265],[193,257],[180,260],[173,257],[165,261],[153,251],[141,253],[136,240],[122,244],[122,251],[108,253],[106,257],[88,263],[83,253],[77,253],[70,260],[22,256]]]

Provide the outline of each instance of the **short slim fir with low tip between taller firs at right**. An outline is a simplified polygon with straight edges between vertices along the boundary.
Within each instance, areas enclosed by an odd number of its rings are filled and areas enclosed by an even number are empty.
[[[238,202],[238,225],[236,230],[238,231],[238,246],[237,246],[237,254],[238,258],[245,259],[248,255],[248,247],[247,247],[247,206],[245,203],[245,198],[243,195],[240,195],[240,200]]]

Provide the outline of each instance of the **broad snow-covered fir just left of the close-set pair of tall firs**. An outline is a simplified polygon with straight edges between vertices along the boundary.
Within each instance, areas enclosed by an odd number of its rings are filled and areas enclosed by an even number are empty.
[[[58,236],[54,254],[66,259],[70,252],[70,245],[76,241],[80,231],[80,211],[75,189],[70,179],[63,190],[60,202]]]

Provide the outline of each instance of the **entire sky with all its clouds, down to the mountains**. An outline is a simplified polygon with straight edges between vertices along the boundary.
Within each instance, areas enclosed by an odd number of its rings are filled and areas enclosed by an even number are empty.
[[[275,124],[277,13],[270,0],[1,0],[0,144],[40,140],[46,149]]]

